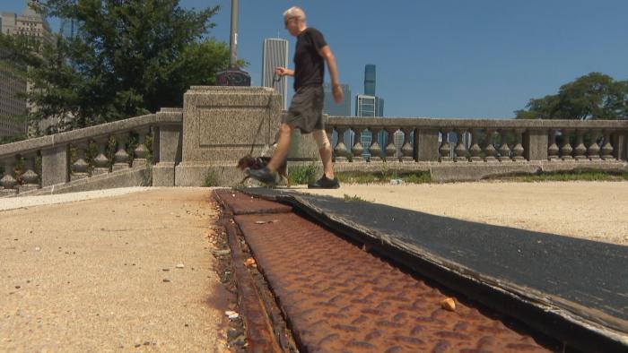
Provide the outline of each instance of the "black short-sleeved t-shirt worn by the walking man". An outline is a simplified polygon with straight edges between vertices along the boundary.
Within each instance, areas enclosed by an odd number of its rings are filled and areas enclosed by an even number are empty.
[[[294,51],[294,90],[323,85],[325,61],[318,51],[325,46],[327,43],[323,34],[315,28],[309,27],[297,36]]]

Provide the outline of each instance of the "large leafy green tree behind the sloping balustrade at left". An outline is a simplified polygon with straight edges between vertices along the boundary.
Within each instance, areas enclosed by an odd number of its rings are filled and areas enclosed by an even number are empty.
[[[73,127],[181,107],[190,85],[214,84],[229,47],[206,37],[214,6],[185,10],[179,0],[49,0],[39,11],[74,20],[73,37],[55,36],[37,52],[22,39],[0,39],[29,65],[31,119],[71,116]],[[242,64],[242,63],[240,63]]]

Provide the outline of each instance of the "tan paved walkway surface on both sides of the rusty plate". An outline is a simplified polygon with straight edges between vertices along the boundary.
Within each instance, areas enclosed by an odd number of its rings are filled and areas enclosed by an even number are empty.
[[[228,294],[207,239],[218,216],[210,193],[0,200],[0,351],[222,351]],[[316,193],[628,245],[626,182],[342,185]],[[64,203],[47,205],[54,202]]]

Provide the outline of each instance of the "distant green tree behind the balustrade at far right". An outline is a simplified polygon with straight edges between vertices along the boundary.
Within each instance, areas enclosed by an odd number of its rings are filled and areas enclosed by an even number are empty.
[[[604,73],[589,73],[561,86],[558,94],[530,99],[518,119],[626,119],[628,81]]]

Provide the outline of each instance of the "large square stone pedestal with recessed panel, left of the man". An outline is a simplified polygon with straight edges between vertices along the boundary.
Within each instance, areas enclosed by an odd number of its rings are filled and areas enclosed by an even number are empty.
[[[183,149],[175,185],[238,184],[243,176],[238,160],[253,142],[254,155],[273,142],[280,119],[281,96],[273,89],[192,86],[183,98]]]

